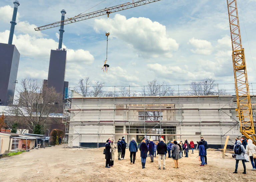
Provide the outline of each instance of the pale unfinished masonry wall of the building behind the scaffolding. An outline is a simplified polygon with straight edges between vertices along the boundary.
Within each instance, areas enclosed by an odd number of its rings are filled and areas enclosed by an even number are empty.
[[[73,95],[74,96],[74,95]],[[78,96],[76,96],[78,97]],[[115,142],[125,136],[129,142],[132,137],[144,135],[131,132],[128,135],[126,128],[143,126],[139,121],[139,112],[147,109],[159,109],[163,112],[161,128],[174,127],[175,134],[162,134],[165,140],[171,138],[177,140],[191,139],[196,142],[200,136],[212,145],[224,144],[227,135],[234,142],[235,137],[240,136],[238,118],[236,118],[236,103],[232,102],[232,96],[203,96],[203,97],[145,97],[144,98],[84,98],[73,99],[71,109],[84,109],[83,111],[70,111],[69,142],[71,146],[79,146],[81,143],[101,143],[107,138],[114,138]],[[112,110],[112,109],[132,110]],[[167,108],[176,110],[164,110]],[[88,110],[87,110],[88,109]],[[95,109],[95,110],[92,110]],[[98,109],[109,109],[101,110]],[[221,110],[219,110],[221,109]],[[86,122],[85,122],[86,121]],[[100,122],[99,122],[100,121]],[[113,125],[113,121],[115,124]],[[126,122],[122,122],[126,121]],[[127,121],[130,121],[130,125]],[[80,122],[80,123],[79,123]],[[81,124],[81,122],[84,122]],[[91,123],[89,123],[91,122]],[[146,128],[154,128],[160,123],[146,122]],[[116,126],[123,126],[122,132],[116,132]],[[136,129],[135,129],[136,130]],[[167,129],[170,131],[170,129]],[[98,132],[102,135],[98,138]],[[81,137],[77,134],[81,133]],[[74,134],[74,135],[72,135]],[[86,135],[84,135],[86,134]],[[91,134],[91,135],[90,135]],[[105,134],[105,135],[103,135]],[[107,134],[107,135],[106,135]],[[115,135],[114,135],[115,134]],[[147,135],[153,136],[153,133]],[[157,135],[157,134],[155,134]],[[158,134],[159,135],[159,134]],[[221,137],[224,135],[224,137]],[[78,137],[77,137],[78,136]],[[233,144],[229,141],[228,144]]]

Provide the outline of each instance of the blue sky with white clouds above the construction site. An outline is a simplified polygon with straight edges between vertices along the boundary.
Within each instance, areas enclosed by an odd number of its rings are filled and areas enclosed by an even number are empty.
[[[66,18],[132,2],[132,0],[19,0],[13,44],[20,52],[17,80],[48,77],[50,50],[58,48],[59,27],[34,28]],[[96,4],[101,4],[95,6]],[[256,0],[237,0],[248,81],[256,82]],[[0,1],[0,42],[8,43],[13,1]],[[95,7],[93,7],[95,6]],[[93,8],[92,8],[93,7]],[[190,84],[204,78],[234,83],[232,48],[226,0],[161,0],[140,7],[64,26],[67,49],[65,81],[77,86],[79,79],[107,86],[139,86],[159,83]],[[109,71],[106,59],[109,32]]]

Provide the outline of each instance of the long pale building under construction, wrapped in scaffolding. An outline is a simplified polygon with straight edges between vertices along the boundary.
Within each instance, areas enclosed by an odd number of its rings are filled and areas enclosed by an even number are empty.
[[[128,96],[120,97],[116,91],[113,97],[83,97],[70,91],[64,107],[68,146],[102,147],[108,138],[117,142],[123,136],[127,143],[133,137],[140,143],[144,136],[153,140],[163,136],[165,141],[193,139],[196,143],[204,136],[208,144],[220,147],[227,135],[232,145],[242,135],[234,90],[228,92],[198,96],[173,90],[168,96],[138,96],[142,94],[127,89]],[[254,96],[251,100],[254,108]]]

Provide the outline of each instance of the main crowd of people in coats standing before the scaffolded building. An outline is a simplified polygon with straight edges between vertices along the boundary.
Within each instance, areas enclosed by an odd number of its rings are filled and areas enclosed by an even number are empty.
[[[203,141],[203,140],[202,140]],[[208,148],[207,142],[203,141],[204,143],[204,150],[205,152],[202,153],[202,165],[205,165],[205,161],[207,160],[206,158],[206,149]],[[125,137],[122,137],[122,139],[119,139],[117,142],[117,146],[114,143],[113,140],[110,138],[106,141],[105,144],[105,159],[106,159],[106,168],[110,168],[114,165],[114,152],[117,149],[118,150],[118,160],[123,160],[125,159],[125,149],[126,149],[126,142],[125,142]],[[194,149],[194,142],[193,140],[188,143],[187,140],[185,140],[184,144],[182,141],[176,141],[173,139],[173,141],[169,141],[168,144],[165,143],[163,137],[160,138],[159,141],[154,142],[153,139],[151,138],[150,140],[146,140],[144,137],[140,147],[138,147],[138,143],[135,141],[135,138],[132,138],[132,140],[129,143],[129,151],[130,151],[130,164],[134,164],[136,160],[136,153],[138,150],[140,150],[140,156],[141,156],[141,165],[142,169],[145,168],[146,164],[146,158],[149,156],[150,157],[150,162],[154,162],[154,157],[156,157],[156,154],[158,155],[158,169],[161,169],[161,160],[163,160],[163,170],[165,170],[165,157],[168,152],[168,158],[173,158],[174,159],[174,168],[179,168],[179,163],[178,159],[183,157],[183,151],[185,157],[188,157],[188,148]],[[120,157],[121,155],[121,157]],[[206,163],[207,164],[207,163]]]

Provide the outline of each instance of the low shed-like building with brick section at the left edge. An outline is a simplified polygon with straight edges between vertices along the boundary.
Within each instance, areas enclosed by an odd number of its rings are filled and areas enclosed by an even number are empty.
[[[35,146],[36,137],[10,132],[0,132],[0,154],[29,150]]]

